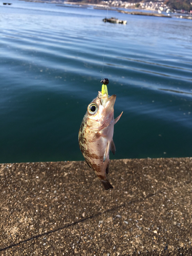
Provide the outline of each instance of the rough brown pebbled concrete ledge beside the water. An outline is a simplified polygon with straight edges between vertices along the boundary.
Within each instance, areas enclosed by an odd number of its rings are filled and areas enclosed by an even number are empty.
[[[0,255],[192,255],[192,158],[0,164]]]

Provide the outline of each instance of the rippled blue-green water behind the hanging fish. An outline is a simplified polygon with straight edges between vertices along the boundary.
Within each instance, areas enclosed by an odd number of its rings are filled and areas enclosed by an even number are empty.
[[[78,130],[110,80],[115,158],[192,156],[192,20],[0,1],[0,162],[82,160]],[[103,51],[104,66],[103,73]],[[111,155],[111,159],[114,157]]]

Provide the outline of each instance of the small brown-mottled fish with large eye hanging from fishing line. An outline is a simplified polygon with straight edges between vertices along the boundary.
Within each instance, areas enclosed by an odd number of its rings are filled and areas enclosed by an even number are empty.
[[[97,97],[88,105],[78,133],[80,151],[105,190],[113,188],[106,175],[109,172],[110,150],[113,155],[116,151],[113,141],[114,124],[123,113],[114,119],[115,100],[115,94],[108,96],[98,92]]]

